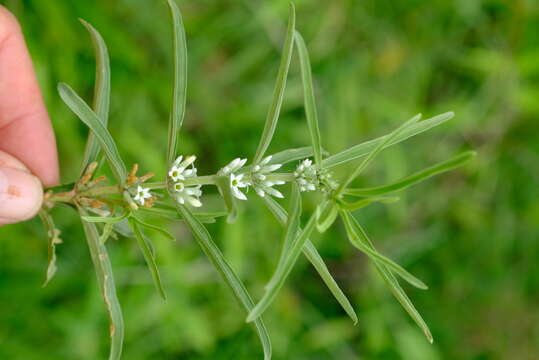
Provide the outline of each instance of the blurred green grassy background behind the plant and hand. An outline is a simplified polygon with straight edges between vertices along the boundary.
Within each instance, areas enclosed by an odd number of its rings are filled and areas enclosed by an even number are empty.
[[[2,0],[20,19],[54,122],[62,180],[78,173],[87,130],[60,101],[65,81],[92,96],[91,42],[109,46],[110,129],[127,163],[165,172],[172,56],[160,0]],[[449,123],[385,151],[360,181],[376,185],[479,151],[389,206],[357,214],[381,251],[429,284],[406,286],[435,342],[400,308],[337,224],[316,244],[359,315],[353,326],[302,257],[265,314],[275,359],[536,359],[539,356],[539,2],[296,0],[311,52],[323,144],[331,152],[417,112]],[[288,1],[182,0],[189,47],[184,154],[209,173],[252,156],[279,63]],[[0,80],[1,81],[1,80]],[[308,144],[297,59],[270,151]],[[254,199],[254,197],[253,197]],[[314,199],[307,198],[306,208]],[[64,244],[41,289],[46,234],[37,220],[0,229],[0,359],[102,359],[107,318],[77,216],[55,211]],[[258,339],[187,230],[155,238],[160,300],[129,240],[109,244],[126,319],[124,358],[258,359]],[[209,226],[258,299],[281,229],[259,200]]]

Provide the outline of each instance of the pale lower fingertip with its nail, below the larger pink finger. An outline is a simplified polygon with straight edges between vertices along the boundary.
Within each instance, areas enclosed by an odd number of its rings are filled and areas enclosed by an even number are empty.
[[[41,207],[43,188],[28,172],[0,167],[0,224],[32,218]]]

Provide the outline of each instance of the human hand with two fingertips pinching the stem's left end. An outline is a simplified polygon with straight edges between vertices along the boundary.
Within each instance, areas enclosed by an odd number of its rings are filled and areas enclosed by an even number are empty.
[[[58,182],[54,133],[17,19],[0,6],[0,225],[33,217]]]

